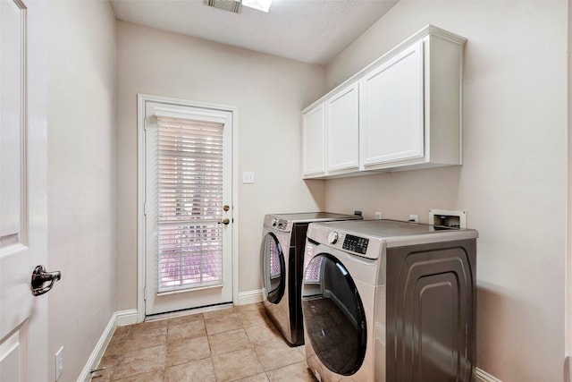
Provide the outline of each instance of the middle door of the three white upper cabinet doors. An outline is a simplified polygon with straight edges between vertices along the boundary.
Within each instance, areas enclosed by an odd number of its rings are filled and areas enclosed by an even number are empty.
[[[326,101],[326,157],[328,171],[348,170],[359,166],[358,85]]]

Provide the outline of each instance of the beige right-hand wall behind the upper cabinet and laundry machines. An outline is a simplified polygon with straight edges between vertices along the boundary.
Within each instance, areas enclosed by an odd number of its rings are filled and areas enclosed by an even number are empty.
[[[326,183],[366,217],[465,209],[480,237],[476,366],[559,381],[565,357],[568,2],[401,0],[326,68],[332,89],[433,24],[468,39],[464,165]]]

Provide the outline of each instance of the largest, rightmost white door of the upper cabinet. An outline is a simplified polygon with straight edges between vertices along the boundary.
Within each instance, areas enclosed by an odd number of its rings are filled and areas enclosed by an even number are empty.
[[[395,55],[361,80],[362,163],[424,156],[423,42]]]

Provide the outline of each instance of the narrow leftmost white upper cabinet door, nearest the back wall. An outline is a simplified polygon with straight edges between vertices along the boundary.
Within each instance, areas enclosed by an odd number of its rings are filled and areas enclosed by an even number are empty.
[[[324,104],[302,115],[303,174],[324,174]]]

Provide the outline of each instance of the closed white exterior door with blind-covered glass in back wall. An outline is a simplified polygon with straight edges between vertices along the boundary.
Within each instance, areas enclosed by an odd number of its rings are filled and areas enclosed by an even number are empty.
[[[145,103],[145,314],[232,301],[232,114]]]

